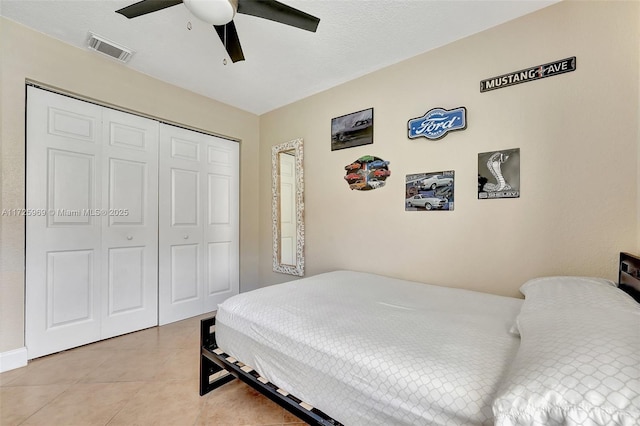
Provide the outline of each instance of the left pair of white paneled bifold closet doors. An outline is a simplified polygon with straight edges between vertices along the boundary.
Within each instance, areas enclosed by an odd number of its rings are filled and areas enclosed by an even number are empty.
[[[27,90],[31,359],[157,324],[158,123]]]

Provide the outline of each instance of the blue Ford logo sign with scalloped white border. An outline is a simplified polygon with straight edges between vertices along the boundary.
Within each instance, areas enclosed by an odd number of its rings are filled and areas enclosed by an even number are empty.
[[[409,120],[409,138],[424,136],[427,139],[441,139],[454,130],[467,128],[467,109],[459,107],[451,110],[434,108],[425,115]]]

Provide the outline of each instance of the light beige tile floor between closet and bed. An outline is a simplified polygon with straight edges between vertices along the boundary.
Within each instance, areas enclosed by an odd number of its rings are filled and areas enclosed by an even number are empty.
[[[234,380],[200,397],[200,319],[35,359],[0,374],[0,424],[304,425]]]

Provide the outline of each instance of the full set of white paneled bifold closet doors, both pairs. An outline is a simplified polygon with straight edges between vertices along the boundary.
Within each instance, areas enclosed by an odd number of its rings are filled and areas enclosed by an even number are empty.
[[[27,93],[30,359],[238,293],[238,143]]]

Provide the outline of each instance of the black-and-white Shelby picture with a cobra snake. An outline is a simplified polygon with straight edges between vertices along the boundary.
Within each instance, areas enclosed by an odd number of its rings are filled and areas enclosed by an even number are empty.
[[[520,197],[520,148],[478,154],[478,199]]]

